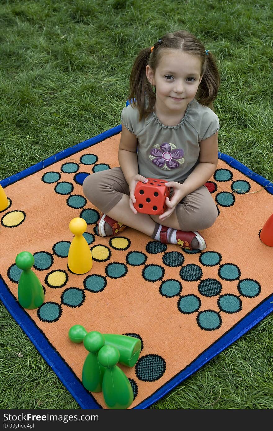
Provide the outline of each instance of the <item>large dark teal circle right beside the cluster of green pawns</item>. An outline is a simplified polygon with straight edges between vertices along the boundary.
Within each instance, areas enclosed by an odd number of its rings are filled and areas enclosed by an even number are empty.
[[[159,355],[141,356],[135,365],[135,374],[141,381],[156,381],[163,376],[166,362]]]

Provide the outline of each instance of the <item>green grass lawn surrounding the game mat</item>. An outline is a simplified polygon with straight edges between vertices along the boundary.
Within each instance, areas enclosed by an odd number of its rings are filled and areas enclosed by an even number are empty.
[[[273,181],[272,6],[2,1],[0,179],[120,124],[135,55],[185,28],[217,57],[220,151]],[[80,408],[3,304],[0,330],[0,409]],[[272,409],[272,370],[269,315],[151,409]]]

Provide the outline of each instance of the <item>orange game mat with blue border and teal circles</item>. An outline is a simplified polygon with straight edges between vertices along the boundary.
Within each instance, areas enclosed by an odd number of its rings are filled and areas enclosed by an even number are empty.
[[[9,206],[0,212],[0,299],[82,409],[106,409],[102,393],[82,385],[88,354],[68,337],[72,325],[103,334],[138,337],[129,408],[145,409],[223,351],[273,310],[273,247],[259,233],[273,213],[273,184],[219,154],[206,184],[218,218],[202,232],[203,252],[165,245],[127,228],[99,237],[100,212],[84,197],[87,175],[118,166],[121,126],[6,178]],[[93,268],[69,271],[69,222],[82,217]],[[18,253],[45,290],[33,310],[18,303]]]

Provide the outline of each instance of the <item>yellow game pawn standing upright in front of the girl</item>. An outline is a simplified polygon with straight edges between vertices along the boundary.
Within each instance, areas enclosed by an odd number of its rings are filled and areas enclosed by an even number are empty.
[[[90,271],[93,259],[88,242],[82,235],[87,228],[87,223],[81,217],[75,217],[69,223],[69,229],[75,237],[69,247],[68,267],[75,274],[85,274]]]

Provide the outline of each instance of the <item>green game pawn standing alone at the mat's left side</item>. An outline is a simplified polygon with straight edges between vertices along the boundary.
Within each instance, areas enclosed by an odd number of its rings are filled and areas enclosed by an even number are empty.
[[[15,263],[23,272],[18,283],[18,301],[23,308],[38,308],[44,302],[44,289],[37,275],[32,271],[34,257],[28,251],[16,256]]]

